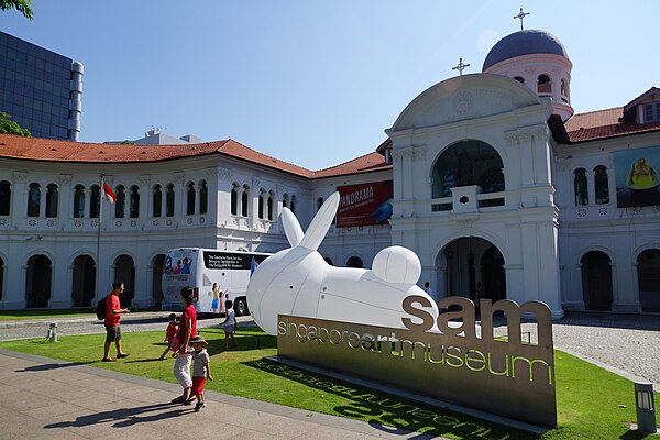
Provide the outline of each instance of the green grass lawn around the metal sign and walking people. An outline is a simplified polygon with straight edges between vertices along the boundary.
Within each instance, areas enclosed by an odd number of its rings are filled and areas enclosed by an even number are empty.
[[[265,361],[264,356],[276,354],[276,341],[263,337],[257,350],[254,334],[263,333],[256,328],[242,328],[241,346],[230,351],[222,351],[221,330],[204,329],[202,333],[210,343],[216,378],[207,382],[207,389],[452,439],[660,439],[623,425],[636,418],[630,381],[559,351],[559,428],[539,437]],[[0,346],[174,383],[174,361],[158,360],[165,349],[163,336],[163,331],[127,333],[124,349],[131,358],[116,363],[99,362],[105,334],[64,337],[58,343],[10,341]],[[656,402],[660,402],[658,393]]]

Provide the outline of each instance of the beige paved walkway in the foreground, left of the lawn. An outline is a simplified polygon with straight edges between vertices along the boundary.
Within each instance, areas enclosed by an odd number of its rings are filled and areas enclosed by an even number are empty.
[[[431,439],[427,435],[0,350],[0,439]]]

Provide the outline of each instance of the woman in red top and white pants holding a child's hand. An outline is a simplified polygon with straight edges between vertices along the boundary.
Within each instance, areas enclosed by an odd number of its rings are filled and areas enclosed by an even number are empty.
[[[193,350],[189,348],[190,339],[197,336],[197,310],[193,306],[193,288],[184,287],[179,294],[179,299],[184,305],[184,311],[179,319],[178,343],[179,350],[174,362],[174,377],[184,388],[184,394],[173,399],[173,404],[190,405],[190,388],[193,380],[190,378],[190,361]]]

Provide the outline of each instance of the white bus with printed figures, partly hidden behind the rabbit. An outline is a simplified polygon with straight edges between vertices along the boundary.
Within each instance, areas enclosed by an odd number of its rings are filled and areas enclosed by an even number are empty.
[[[193,287],[198,314],[224,315],[231,299],[237,316],[248,315],[245,290],[254,268],[270,254],[180,248],[167,251],[163,267],[163,310],[183,310],[179,293]]]

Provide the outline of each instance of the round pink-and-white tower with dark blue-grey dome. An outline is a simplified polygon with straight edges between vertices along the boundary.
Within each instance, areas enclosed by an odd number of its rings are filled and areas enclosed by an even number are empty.
[[[524,30],[499,40],[488,52],[482,72],[508,76],[538,96],[551,97],[554,113],[566,121],[573,116],[572,67],[569,54],[557,36],[544,31]]]

